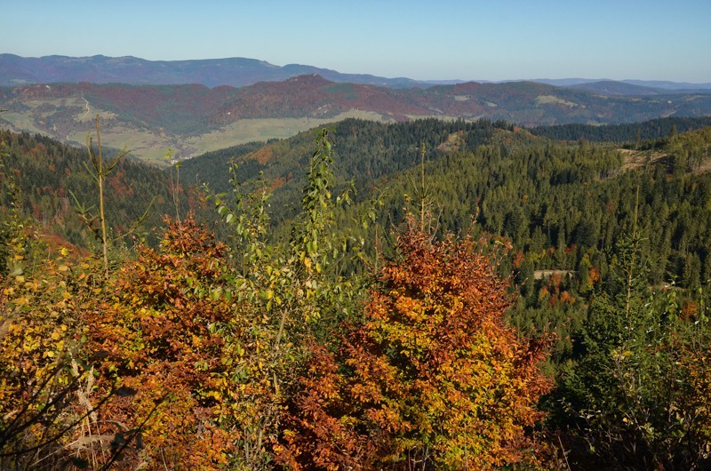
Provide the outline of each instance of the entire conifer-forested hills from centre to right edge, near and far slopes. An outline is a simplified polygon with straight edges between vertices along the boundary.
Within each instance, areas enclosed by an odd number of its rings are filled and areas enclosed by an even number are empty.
[[[547,309],[539,323],[531,315],[522,317],[529,327],[540,329],[544,322],[562,323],[571,316],[570,309],[583,312],[575,303],[587,302],[595,283],[606,279],[616,244],[635,224],[635,211],[643,257],[650,262],[649,283],[692,288],[711,278],[711,127],[664,134],[675,125],[688,129],[703,124],[704,119],[668,119],[606,130],[653,140],[654,146],[643,150],[635,149],[634,142],[623,148],[624,142],[551,140],[503,122],[347,120],[333,126],[337,187],[355,181],[356,201],[363,202],[356,212],[366,211],[367,200],[380,194],[384,206],[377,233],[387,235],[402,222],[403,207],[411,205],[408,198],[416,198],[413,182],[419,181],[424,144],[427,195],[441,228],[469,230],[477,215],[475,230],[513,244],[514,257],[501,268],[516,273],[522,309]],[[306,132],[256,151],[225,149],[186,162],[183,174],[186,179],[196,174],[219,177],[211,186],[224,191],[224,169],[232,157],[239,164],[239,180],[263,172],[274,189],[272,214],[278,225],[298,205],[313,139]],[[342,215],[340,225],[348,226],[351,219]],[[373,243],[375,234],[371,226],[363,237]],[[543,270],[571,277],[550,281],[536,275]],[[567,314],[554,321],[555,312]],[[561,327],[563,338],[570,327]]]

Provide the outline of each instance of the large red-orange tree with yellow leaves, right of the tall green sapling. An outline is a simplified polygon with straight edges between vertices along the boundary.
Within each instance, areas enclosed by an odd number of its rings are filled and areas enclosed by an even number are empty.
[[[419,225],[417,225],[419,226]],[[547,341],[505,318],[511,298],[469,237],[409,228],[363,322],[312,347],[279,459],[299,469],[487,469],[536,462]]]

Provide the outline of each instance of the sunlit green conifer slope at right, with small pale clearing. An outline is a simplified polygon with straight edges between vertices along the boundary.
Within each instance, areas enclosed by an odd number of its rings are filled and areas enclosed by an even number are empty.
[[[611,267],[633,228],[642,241],[646,285],[689,293],[706,285],[710,162],[711,128],[677,134],[648,151],[516,141],[501,133],[473,152],[430,162],[425,181],[443,230],[483,231],[512,243],[500,269],[515,274],[521,294],[513,318],[524,330],[556,331],[554,357],[560,359],[571,353],[572,334],[595,292],[617,289]],[[411,169],[382,182],[387,211],[365,240],[377,240],[376,234],[402,221],[403,207],[413,204],[405,194],[415,197],[417,181],[419,170]]]

